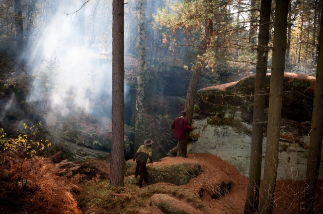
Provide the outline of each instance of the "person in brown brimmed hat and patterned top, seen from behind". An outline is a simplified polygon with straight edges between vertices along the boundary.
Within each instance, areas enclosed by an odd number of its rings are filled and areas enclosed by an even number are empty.
[[[146,164],[148,164],[148,159],[154,165],[153,159],[152,159],[152,144],[153,141],[151,139],[147,139],[144,141],[145,145],[142,145],[139,147],[138,151],[135,154],[134,159],[132,162],[134,163],[135,160],[137,162],[135,177],[137,178],[139,174],[139,167],[140,167],[140,178],[139,178],[139,184],[138,186],[141,188],[143,186],[143,180],[145,176],[145,170],[146,170]]]

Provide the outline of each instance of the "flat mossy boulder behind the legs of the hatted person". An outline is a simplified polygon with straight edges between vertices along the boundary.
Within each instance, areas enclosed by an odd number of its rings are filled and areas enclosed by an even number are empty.
[[[136,163],[128,160],[124,165],[125,176],[135,174]],[[158,182],[172,183],[175,185],[185,185],[192,178],[202,173],[201,165],[198,163],[173,163],[161,164],[156,163],[154,166],[146,166],[145,177],[148,182],[155,184]]]

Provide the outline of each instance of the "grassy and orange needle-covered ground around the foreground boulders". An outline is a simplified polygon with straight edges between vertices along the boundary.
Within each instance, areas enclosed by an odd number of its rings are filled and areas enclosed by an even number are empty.
[[[161,214],[156,206],[151,206],[150,197],[154,194],[167,194],[205,214],[243,213],[247,178],[227,161],[210,154],[188,154],[188,159],[163,158],[156,165],[169,165],[183,162],[199,163],[202,174],[194,177],[183,186],[157,183],[139,188],[125,183],[125,187],[112,187],[109,180],[101,180],[90,185],[81,184],[81,191],[74,193],[82,213],[127,213]],[[218,199],[212,199],[214,188],[221,183],[231,183],[230,191]],[[276,184],[273,213],[299,213],[303,181],[279,180]],[[317,186],[315,208],[323,212],[323,181]]]

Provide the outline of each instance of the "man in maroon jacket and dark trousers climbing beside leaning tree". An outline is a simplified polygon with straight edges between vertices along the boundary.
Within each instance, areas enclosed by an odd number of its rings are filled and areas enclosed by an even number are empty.
[[[185,119],[186,111],[180,112],[180,117],[176,117],[174,121],[171,123],[170,127],[174,132],[174,137],[178,140],[178,145],[169,150],[167,156],[176,157],[176,152],[178,150],[182,150],[182,158],[186,157],[186,132],[192,131],[192,128],[188,126],[187,119]]]

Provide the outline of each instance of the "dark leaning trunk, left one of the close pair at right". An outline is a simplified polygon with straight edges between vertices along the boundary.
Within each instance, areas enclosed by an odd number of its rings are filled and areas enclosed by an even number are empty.
[[[254,88],[251,153],[247,197],[244,214],[257,211],[259,203],[259,186],[261,177],[261,154],[263,137],[263,115],[265,109],[264,91],[266,87],[269,22],[271,0],[261,0],[258,35],[258,56],[256,65],[256,82]]]

